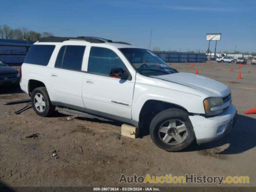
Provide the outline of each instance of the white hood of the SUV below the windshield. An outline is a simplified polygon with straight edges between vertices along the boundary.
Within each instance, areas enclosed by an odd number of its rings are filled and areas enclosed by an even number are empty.
[[[169,82],[174,82],[188,86],[199,90],[210,97],[224,97],[230,94],[230,89],[223,83],[216,80],[196,75],[192,73],[174,73],[161,76],[153,76],[154,78],[166,80]]]

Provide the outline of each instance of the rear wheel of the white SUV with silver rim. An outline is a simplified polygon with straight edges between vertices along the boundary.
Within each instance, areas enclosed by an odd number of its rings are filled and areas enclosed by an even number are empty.
[[[31,103],[34,111],[39,116],[48,117],[55,111],[55,106],[52,105],[45,87],[38,87],[33,90]]]

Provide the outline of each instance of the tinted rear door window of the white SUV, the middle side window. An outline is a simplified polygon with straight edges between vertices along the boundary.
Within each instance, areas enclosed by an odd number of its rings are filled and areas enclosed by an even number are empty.
[[[85,46],[62,46],[56,59],[55,67],[81,70]]]

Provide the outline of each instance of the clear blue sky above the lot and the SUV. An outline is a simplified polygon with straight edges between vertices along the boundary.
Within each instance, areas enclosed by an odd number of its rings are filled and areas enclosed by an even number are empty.
[[[177,51],[205,51],[206,33],[222,33],[217,51],[256,52],[256,0],[8,0],[1,1],[3,24],[143,48],[152,27],[151,48]]]

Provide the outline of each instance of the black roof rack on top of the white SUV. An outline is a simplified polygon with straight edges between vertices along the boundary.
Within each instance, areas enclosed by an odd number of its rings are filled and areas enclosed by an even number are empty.
[[[112,41],[112,40],[104,39],[104,38],[100,38],[100,37],[87,37],[87,36],[78,36],[78,37],[53,37],[53,36],[50,36],[50,37],[40,38],[39,42],[64,42],[64,41],[68,41],[68,40],[83,40],[83,41],[90,42],[90,43],[109,42],[109,43],[131,45],[126,42]]]

